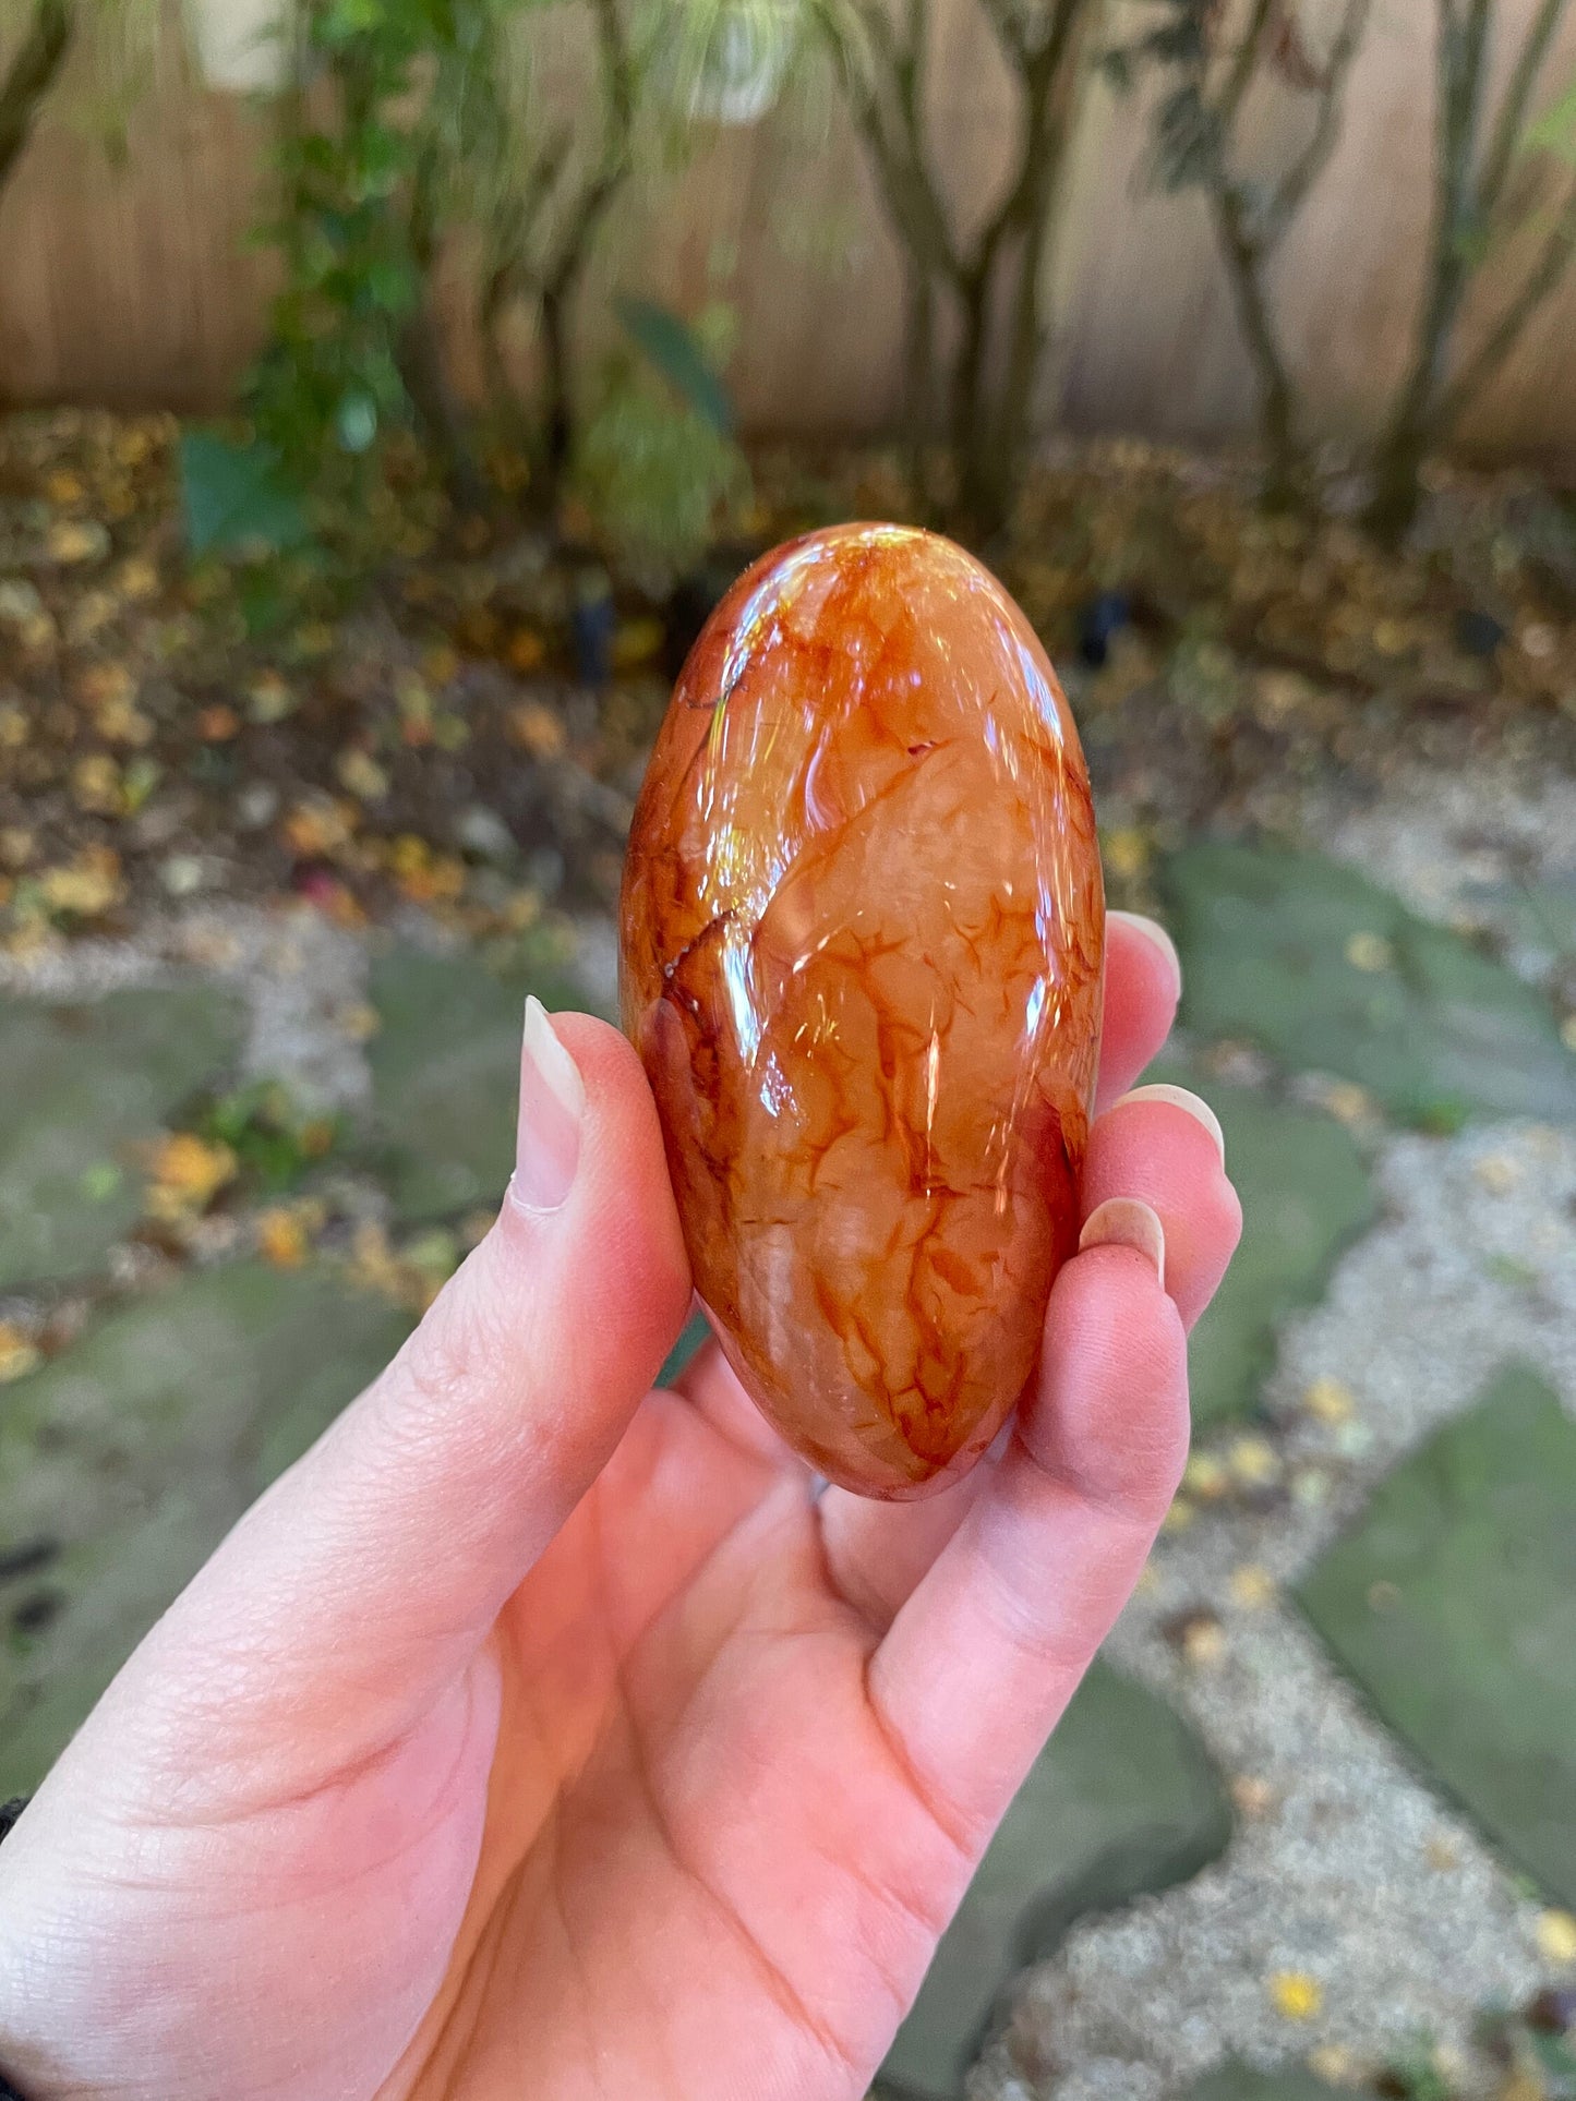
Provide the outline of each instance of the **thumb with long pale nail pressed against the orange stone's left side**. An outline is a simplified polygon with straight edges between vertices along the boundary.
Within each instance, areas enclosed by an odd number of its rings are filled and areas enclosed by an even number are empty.
[[[193,1687],[212,1687],[195,1702],[204,1729],[242,1754],[256,1704],[275,1719],[282,1698],[303,1767],[315,1750],[391,1742],[475,1656],[590,1488],[687,1305],[635,1050],[603,1021],[548,1021],[530,1000],[496,1225],[382,1378],[231,1532],[132,1672],[143,1685],[174,1672],[183,1719]]]

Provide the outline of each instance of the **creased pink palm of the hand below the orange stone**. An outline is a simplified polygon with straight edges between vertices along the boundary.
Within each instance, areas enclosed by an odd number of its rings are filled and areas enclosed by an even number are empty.
[[[971,1859],[874,1641],[803,1471],[654,1393],[498,1622],[481,1868],[389,2095],[864,2093]]]

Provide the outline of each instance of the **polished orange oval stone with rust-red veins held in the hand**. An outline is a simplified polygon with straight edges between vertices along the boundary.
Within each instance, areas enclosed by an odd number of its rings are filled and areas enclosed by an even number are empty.
[[[897,525],[792,540],[672,693],[624,868],[624,1027],[696,1286],[866,1496],[965,1473],[1076,1244],[1105,906],[1028,620]]]

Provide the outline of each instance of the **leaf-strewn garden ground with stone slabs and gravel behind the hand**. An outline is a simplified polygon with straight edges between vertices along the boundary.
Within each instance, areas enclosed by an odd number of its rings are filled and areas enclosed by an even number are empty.
[[[611,1006],[693,590],[576,664],[542,550],[412,500],[370,590],[282,620],[181,561],[164,424],[0,429],[4,1794],[485,1223],[523,990]],[[763,536],[897,508],[880,460],[761,487]],[[1112,893],[1183,950],[1158,1072],[1217,1105],[1246,1240],[1173,1519],[885,2084],[1555,2101],[1576,540],[1463,481],[1378,563],[1105,448],[1000,567]]]

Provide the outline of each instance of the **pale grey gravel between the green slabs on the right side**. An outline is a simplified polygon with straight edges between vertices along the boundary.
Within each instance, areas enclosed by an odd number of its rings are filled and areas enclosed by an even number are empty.
[[[1416,912],[1492,924],[1481,887],[1576,866],[1576,786],[1421,777],[1341,821],[1315,813],[1313,830]],[[1536,950],[1511,960],[1549,966]],[[1368,1719],[1282,1590],[1509,1359],[1576,1414],[1576,1128],[1393,1137],[1374,1170],[1381,1223],[1288,1326],[1265,1391],[1290,1502],[1265,1515],[1185,1496],[1191,1521],[1160,1540],[1107,1645],[1200,1729],[1238,1794],[1236,1838],[1191,1882],[1084,1922],[1023,1979],[975,2101],[1162,2101],[1229,2057],[1311,2057],[1357,2082],[1421,2038],[1460,2095],[1488,2097],[1502,2072],[1473,2046],[1477,2013],[1555,1981],[1540,1906]],[[1349,1389],[1349,1420],[1307,1410],[1315,1380]],[[1242,1435],[1210,1439],[1206,1458],[1229,1471]],[[1175,1628],[1198,1611],[1221,1639],[1189,1660]],[[1276,1973],[1311,1977],[1320,2011],[1288,2017]]]

